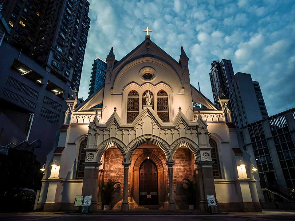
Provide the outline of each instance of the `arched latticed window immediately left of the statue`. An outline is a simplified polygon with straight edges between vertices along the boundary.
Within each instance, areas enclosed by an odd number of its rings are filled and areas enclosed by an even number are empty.
[[[128,94],[127,123],[132,123],[139,114],[139,94],[132,90]]]

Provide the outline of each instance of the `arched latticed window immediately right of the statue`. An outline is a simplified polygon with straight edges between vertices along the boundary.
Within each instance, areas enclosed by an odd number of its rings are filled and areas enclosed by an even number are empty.
[[[168,95],[164,90],[157,93],[157,109],[159,118],[163,122],[169,122]]]

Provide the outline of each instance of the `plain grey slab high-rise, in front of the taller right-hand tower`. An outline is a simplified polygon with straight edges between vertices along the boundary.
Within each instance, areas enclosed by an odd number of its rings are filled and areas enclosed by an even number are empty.
[[[232,77],[231,87],[231,103],[236,126],[242,128],[268,117],[259,83],[253,81],[250,74],[236,73]]]

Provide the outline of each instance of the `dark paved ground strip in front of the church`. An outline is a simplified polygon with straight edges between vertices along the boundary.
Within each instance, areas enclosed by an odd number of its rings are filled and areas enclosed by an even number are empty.
[[[192,212],[164,212],[164,211],[130,211],[127,213],[100,212],[95,214],[80,215],[63,212],[32,212],[32,213],[6,213],[0,214],[0,220],[22,220],[22,221],[60,221],[60,220],[103,220],[103,221],[271,221],[271,220],[295,220],[295,211],[264,211],[262,213],[230,213],[229,215],[210,215],[206,213]]]

